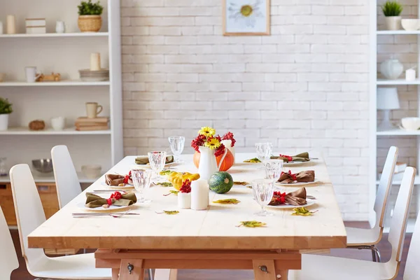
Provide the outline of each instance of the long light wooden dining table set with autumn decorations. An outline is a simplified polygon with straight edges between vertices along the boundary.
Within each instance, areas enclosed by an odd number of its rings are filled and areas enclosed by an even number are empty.
[[[135,165],[127,156],[110,174],[127,174]],[[234,181],[251,182],[265,177],[262,164],[245,163],[253,153],[237,153],[229,169]],[[197,173],[193,155],[171,170]],[[96,267],[112,269],[113,279],[144,279],[144,269],[156,269],[155,279],[176,279],[176,269],[253,269],[257,280],[285,280],[289,269],[301,268],[301,250],[346,247],[346,230],[325,162],[319,156],[302,165],[283,167],[286,172],[314,170],[316,183],[305,186],[315,204],[311,216],[292,216],[292,209],[270,207],[273,216],[255,216],[260,206],[247,186],[234,185],[225,194],[210,192],[209,207],[194,211],[179,209],[172,187],[152,186],[149,203],[137,203],[120,218],[111,216],[73,218],[85,202],[85,192],[104,190],[104,176],[69,202],[28,236],[29,247],[49,249],[97,248]],[[291,192],[297,187],[278,186]],[[103,194],[109,197],[111,193]],[[235,198],[239,204],[214,201]],[[309,200],[308,200],[309,201]],[[179,211],[179,214],[160,214]],[[241,221],[266,223],[261,228],[238,226]]]

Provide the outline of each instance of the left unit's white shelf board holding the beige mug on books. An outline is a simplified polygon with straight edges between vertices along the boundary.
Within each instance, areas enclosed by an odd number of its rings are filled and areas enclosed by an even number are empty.
[[[0,135],[102,135],[111,134],[111,130],[77,131],[75,128],[64,130],[39,130],[32,131],[27,127],[10,127],[8,130],[0,131]]]

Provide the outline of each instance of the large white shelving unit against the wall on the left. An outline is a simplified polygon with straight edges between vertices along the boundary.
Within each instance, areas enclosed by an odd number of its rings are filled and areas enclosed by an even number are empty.
[[[123,158],[123,104],[120,47],[120,1],[102,0],[102,29],[81,33],[78,30],[80,0],[0,0],[0,21],[15,15],[18,34],[0,35],[0,97],[13,104],[9,129],[0,132],[0,158],[7,165],[27,163],[37,158],[50,158],[52,146],[64,144],[78,170],[80,183],[92,183],[81,174],[82,165],[101,165],[105,172]],[[48,7],[48,8],[45,8]],[[46,34],[25,34],[25,18],[45,18]],[[55,33],[55,22],[66,23],[66,33]],[[109,68],[110,80],[84,82],[79,69],[88,69],[90,53],[100,52],[102,67]],[[36,66],[39,72],[62,74],[62,81],[26,83],[25,66]],[[109,130],[76,131],[74,121],[85,116],[85,102],[98,102],[104,107],[99,116],[109,116]],[[51,129],[50,118],[63,116],[66,128]],[[46,129],[30,131],[31,120],[44,120]],[[37,182],[53,182],[52,174],[34,173]],[[8,182],[0,177],[0,182]]]

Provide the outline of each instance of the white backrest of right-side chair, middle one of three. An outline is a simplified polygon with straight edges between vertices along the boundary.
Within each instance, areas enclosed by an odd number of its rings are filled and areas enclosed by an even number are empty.
[[[409,203],[411,202],[414,176],[416,169],[407,167],[402,176],[400,190],[395,202],[395,209],[391,218],[391,225],[389,229],[388,241],[392,246],[391,261],[401,261],[402,246],[404,245],[405,230],[407,229],[407,218],[409,213]]]

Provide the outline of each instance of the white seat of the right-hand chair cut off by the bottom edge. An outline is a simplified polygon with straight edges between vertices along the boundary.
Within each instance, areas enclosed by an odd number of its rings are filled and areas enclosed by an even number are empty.
[[[302,270],[289,270],[288,280],[393,279],[396,263],[370,262],[328,255],[302,255]]]

